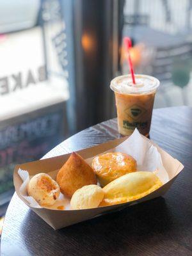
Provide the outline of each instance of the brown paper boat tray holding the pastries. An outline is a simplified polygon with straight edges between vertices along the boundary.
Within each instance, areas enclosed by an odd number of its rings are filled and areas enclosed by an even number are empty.
[[[126,139],[127,137],[109,141],[107,143],[102,143],[95,147],[79,150],[77,151],[77,153],[81,155],[84,159],[86,159],[88,157],[93,157],[97,154],[105,152],[110,148],[114,148]],[[145,139],[148,140],[147,138]],[[68,157],[70,156],[70,153],[61,155],[58,157],[51,157],[48,159],[42,159],[39,161],[33,161],[33,162],[19,164],[15,166],[15,170],[13,173],[13,182],[15,185],[15,191],[19,196],[20,200],[22,200],[22,202],[28,205],[34,212],[36,212],[36,214],[38,214],[38,216],[40,216],[40,218],[42,218],[55,230],[59,228],[67,227],[74,223],[95,218],[97,216],[106,214],[108,212],[120,211],[121,209],[124,209],[125,207],[129,207],[133,204],[138,204],[140,202],[144,202],[152,198],[156,198],[158,196],[164,195],[164,193],[166,193],[166,191],[172,185],[177,175],[179,175],[179,173],[184,168],[184,166],[177,159],[174,159],[172,156],[170,156],[164,150],[159,148],[152,141],[150,141],[150,143],[154,144],[157,147],[159,153],[161,154],[164,168],[166,169],[166,172],[168,172],[170,180],[166,184],[161,186],[161,188],[157,189],[156,191],[150,193],[147,196],[144,196],[143,198],[140,198],[139,200],[127,202],[124,204],[110,205],[110,206],[98,207],[94,209],[83,209],[83,210],[60,211],[60,210],[54,210],[54,209],[30,207],[29,203],[22,197],[22,195],[20,195],[20,192],[19,192],[19,188],[22,184],[22,179],[20,179],[20,176],[18,174],[19,168],[21,168],[22,170],[28,170],[29,175],[35,175],[36,173],[40,173],[40,172],[49,173],[54,170],[59,170],[61,166],[63,166],[65,161],[67,161]]]

